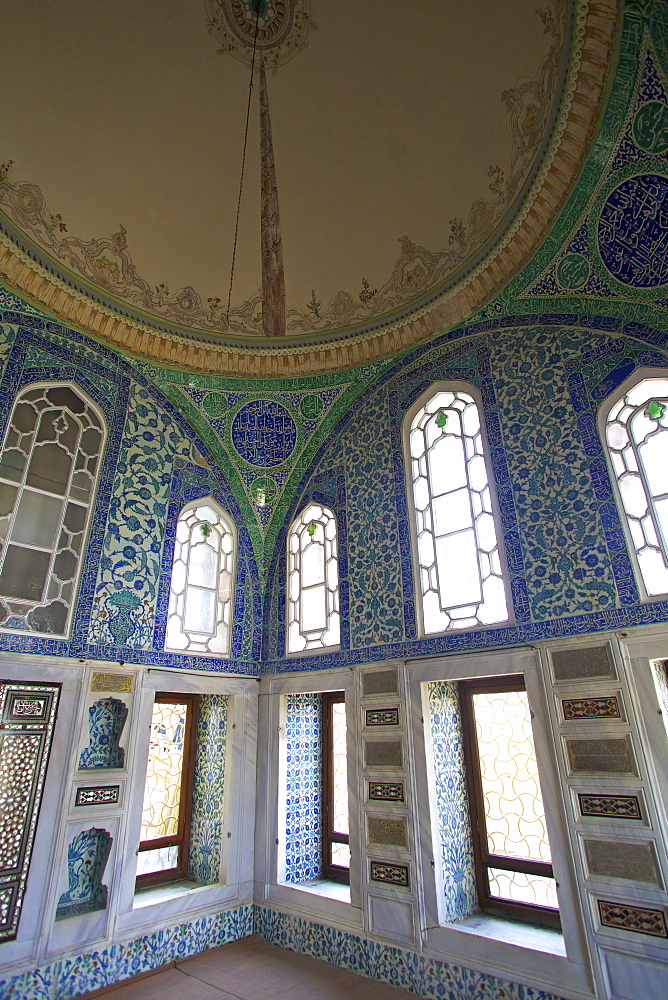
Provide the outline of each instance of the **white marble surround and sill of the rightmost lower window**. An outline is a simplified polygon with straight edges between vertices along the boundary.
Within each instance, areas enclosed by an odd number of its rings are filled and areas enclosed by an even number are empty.
[[[423,879],[426,941],[430,956],[484,969],[518,981],[534,982],[540,988],[561,995],[588,993],[587,948],[579,919],[577,889],[566,836],[566,818],[559,784],[555,736],[551,732],[547,692],[542,677],[540,653],[535,649],[514,649],[501,653],[469,653],[441,657],[429,662],[412,660],[406,664],[409,701],[422,711],[410,713],[409,726],[415,754],[415,802],[421,805],[419,863]],[[523,674],[532,705],[532,729],[539,763],[540,785],[552,852],[555,878],[559,884],[561,934],[543,927],[476,913],[449,923],[443,917],[443,885],[436,859],[435,831],[438,807],[430,776],[433,768],[428,736],[429,719],[426,684],[432,681],[460,681],[477,677]]]

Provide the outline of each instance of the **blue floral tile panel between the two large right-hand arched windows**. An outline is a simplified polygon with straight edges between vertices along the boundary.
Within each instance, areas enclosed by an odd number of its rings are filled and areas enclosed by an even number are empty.
[[[584,345],[585,335],[555,332],[514,330],[490,347],[534,621],[616,603],[588,441],[568,389],[567,363],[577,358],[577,340]],[[592,431],[596,446],[595,425]],[[496,478],[498,486],[498,471]]]

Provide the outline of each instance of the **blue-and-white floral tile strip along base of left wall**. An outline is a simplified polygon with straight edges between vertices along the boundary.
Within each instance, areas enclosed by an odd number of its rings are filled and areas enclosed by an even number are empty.
[[[253,907],[200,917],[0,980],[0,1000],[68,1000],[253,933]]]

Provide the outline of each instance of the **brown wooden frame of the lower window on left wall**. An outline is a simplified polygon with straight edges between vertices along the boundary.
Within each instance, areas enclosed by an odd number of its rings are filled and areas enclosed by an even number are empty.
[[[137,854],[157,850],[160,847],[178,847],[178,858],[174,868],[160,872],[138,875],[135,888],[146,889],[165,882],[177,882],[188,877],[188,849],[190,847],[190,827],[192,822],[193,786],[195,781],[195,756],[197,751],[197,713],[199,695],[182,694],[177,691],[157,691],[153,704],[187,705],[186,724],[183,736],[183,766],[181,769],[181,794],[179,796],[179,820],[175,834],[169,837],[155,837],[142,840]],[[146,777],[144,776],[144,788]]]

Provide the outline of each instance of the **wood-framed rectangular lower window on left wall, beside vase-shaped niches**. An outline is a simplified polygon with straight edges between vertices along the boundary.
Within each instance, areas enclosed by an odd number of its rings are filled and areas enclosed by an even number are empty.
[[[137,888],[187,877],[198,696],[158,692],[137,855]]]

